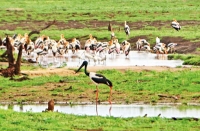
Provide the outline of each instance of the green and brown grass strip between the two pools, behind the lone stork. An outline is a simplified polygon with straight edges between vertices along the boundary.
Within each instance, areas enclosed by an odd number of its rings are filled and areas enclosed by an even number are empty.
[[[98,73],[104,74],[113,82],[112,101],[114,103],[169,102],[187,105],[200,102],[199,70],[162,72],[102,70]],[[72,103],[95,102],[95,85],[83,73],[78,76],[38,76],[21,82],[0,77],[0,82],[2,83],[0,86],[1,101],[21,103],[48,101],[54,98],[55,101]],[[99,101],[107,102],[109,87],[99,85],[99,90]],[[177,99],[162,98],[160,94],[176,96]]]

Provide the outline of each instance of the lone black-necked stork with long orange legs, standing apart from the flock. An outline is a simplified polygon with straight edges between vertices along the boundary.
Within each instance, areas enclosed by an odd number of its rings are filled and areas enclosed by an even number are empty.
[[[82,65],[79,67],[79,69],[76,71],[76,73],[83,67],[85,66],[85,74],[90,77],[90,79],[95,83],[96,85],[96,104],[98,100],[98,85],[99,84],[105,84],[110,87],[110,97],[109,97],[109,103],[111,103],[111,95],[112,95],[112,82],[108,80],[105,76],[101,74],[97,74],[95,72],[87,72],[87,61],[83,61]]]

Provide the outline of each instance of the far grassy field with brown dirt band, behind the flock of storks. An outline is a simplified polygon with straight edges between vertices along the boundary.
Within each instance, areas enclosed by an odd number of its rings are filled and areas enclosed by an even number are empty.
[[[0,18],[2,25],[26,24],[16,27],[14,30],[1,30],[0,36],[4,33],[27,33],[31,29],[41,29],[44,23],[56,21],[67,24],[82,24],[80,28],[57,27],[41,31],[41,34],[50,36],[50,38],[58,40],[60,34],[65,34],[67,39],[73,37],[84,37],[93,34],[101,39],[109,39],[110,32],[107,31],[108,21],[114,22],[113,28],[116,30],[121,27],[122,31],[117,32],[116,36],[120,41],[126,38],[123,31],[123,23],[126,20],[131,27],[131,35],[129,39],[135,36],[147,36],[151,44],[155,43],[155,37],[164,36],[183,37],[192,41],[199,39],[199,24],[195,24],[200,20],[198,0],[102,0],[102,1],[14,1],[3,0],[1,2]],[[190,14],[190,15],[187,15]],[[173,19],[182,22],[182,30],[174,31],[170,27]],[[98,26],[98,21],[104,21],[104,25]],[[154,23],[161,21],[161,23]],[[184,21],[187,21],[184,23]],[[40,25],[34,24],[41,22]],[[78,22],[78,23],[76,23]],[[131,24],[136,22],[135,24]],[[95,23],[97,27],[95,27]],[[137,26],[141,25],[140,28]],[[67,25],[69,26],[69,25]],[[35,37],[34,35],[32,38]]]

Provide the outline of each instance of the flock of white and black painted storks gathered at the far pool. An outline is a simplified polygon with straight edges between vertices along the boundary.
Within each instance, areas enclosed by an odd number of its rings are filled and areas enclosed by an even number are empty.
[[[181,29],[181,26],[176,20],[171,23],[171,26],[177,31]],[[61,34],[59,41],[42,35],[38,37],[35,42],[33,42],[29,38],[28,34],[24,34],[23,36],[20,34],[14,35],[9,37],[9,39],[15,51],[18,50],[20,45],[23,45],[24,52],[28,57],[28,60],[33,63],[41,62],[43,59],[38,61],[38,58],[46,55],[52,55],[55,61],[57,57],[62,57],[66,54],[69,54],[70,50],[72,54],[76,54],[79,60],[94,60],[95,63],[105,62],[106,54],[110,54],[111,57],[114,57],[115,54],[125,54],[125,57],[128,57],[131,50],[130,42],[124,40],[120,44],[113,30],[109,30],[111,31],[111,39],[108,42],[97,41],[96,38],[90,34],[89,39],[85,42],[83,47],[84,51],[82,53],[78,53],[79,50],[82,49],[80,41],[76,38],[73,38],[72,41],[69,42],[65,39],[63,34]],[[130,35],[130,28],[126,24],[126,21],[124,24],[124,31],[128,37]],[[2,45],[0,45],[0,49],[6,49],[6,38],[2,39],[1,43]],[[167,54],[169,51],[173,52],[176,45],[177,43],[161,43],[158,37],[156,37],[156,45],[153,47],[153,49],[150,48],[149,42],[145,39],[138,39],[136,42],[136,48],[138,51],[143,49],[149,52],[156,52],[157,54]]]

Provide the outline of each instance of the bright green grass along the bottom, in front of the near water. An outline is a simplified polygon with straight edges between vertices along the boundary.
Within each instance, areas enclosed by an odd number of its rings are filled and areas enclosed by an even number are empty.
[[[0,110],[0,130],[67,130],[67,131],[198,131],[199,121],[167,118],[115,118],[100,116],[75,116],[62,113],[32,113]]]

